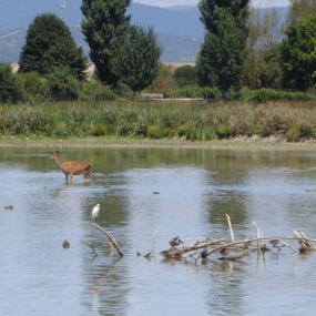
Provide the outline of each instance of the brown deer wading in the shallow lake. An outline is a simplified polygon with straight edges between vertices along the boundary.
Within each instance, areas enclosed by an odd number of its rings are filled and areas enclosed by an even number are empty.
[[[55,154],[52,152],[52,155],[49,157],[49,160],[54,160],[57,166],[65,174],[65,180],[68,181],[68,176],[70,175],[70,179],[72,181],[73,175],[80,175],[83,173],[84,177],[88,179],[88,175],[95,180],[95,176],[89,172],[90,167],[92,167],[92,164],[88,161],[68,161],[68,162],[61,162],[59,156],[59,151],[55,152]]]

